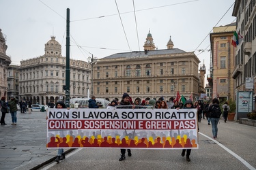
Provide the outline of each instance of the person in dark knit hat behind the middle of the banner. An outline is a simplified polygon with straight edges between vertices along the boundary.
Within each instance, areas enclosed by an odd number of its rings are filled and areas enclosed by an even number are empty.
[[[130,96],[124,92],[124,95],[122,97],[122,101],[119,103],[120,107],[117,107],[117,109],[134,109],[135,105],[132,105],[130,103]],[[132,156],[132,152],[130,149],[127,149],[128,156]],[[121,149],[121,157],[119,158],[119,161],[122,161],[126,158],[126,149]]]

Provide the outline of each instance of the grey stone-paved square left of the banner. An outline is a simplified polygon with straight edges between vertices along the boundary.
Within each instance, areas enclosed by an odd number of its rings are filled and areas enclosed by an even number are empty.
[[[46,149],[46,112],[17,112],[17,124],[6,114],[0,126],[0,169],[38,169],[53,161],[57,150]],[[70,150],[65,150],[69,152]]]

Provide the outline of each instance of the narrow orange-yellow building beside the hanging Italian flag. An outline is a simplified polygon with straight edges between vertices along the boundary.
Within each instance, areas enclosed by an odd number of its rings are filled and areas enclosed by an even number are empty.
[[[235,48],[231,45],[236,22],[214,27],[210,33],[212,52],[212,99],[235,99],[235,85],[231,73],[235,65]]]

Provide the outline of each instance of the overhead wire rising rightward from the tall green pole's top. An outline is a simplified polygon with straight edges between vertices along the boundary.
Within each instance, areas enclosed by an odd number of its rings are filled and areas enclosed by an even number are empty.
[[[173,6],[173,5],[180,5],[180,4],[183,4],[183,3],[190,3],[190,2],[195,2],[195,1],[199,1],[199,0],[186,1],[186,2],[182,2],[182,3],[173,3],[173,4],[169,4],[169,5],[162,5],[162,6],[159,6],[159,7],[150,7],[150,8],[146,8],[146,9],[143,9],[143,10],[137,10],[135,12],[141,12],[141,11],[145,11],[145,10],[153,10],[153,9],[160,8],[160,7],[168,7],[168,6]],[[134,12],[134,11],[122,12],[120,14],[128,14],[128,13],[132,13],[132,12]],[[117,16],[117,15],[120,15],[120,14],[110,14],[110,15],[106,15],[106,16],[97,16],[97,17],[93,17],[93,18],[85,18],[85,19],[80,19],[80,20],[70,20],[70,22],[77,22],[77,21],[82,21],[82,20],[92,20],[92,19],[104,18],[104,17],[109,17],[109,16]]]

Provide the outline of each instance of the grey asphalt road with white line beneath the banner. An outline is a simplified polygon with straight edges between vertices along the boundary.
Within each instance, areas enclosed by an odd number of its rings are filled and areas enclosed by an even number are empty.
[[[218,138],[212,139],[212,126],[199,123],[199,149],[192,150],[191,162],[181,150],[132,150],[132,156],[119,161],[119,149],[78,149],[61,163],[41,169],[255,169],[256,127],[223,120],[218,124]]]

